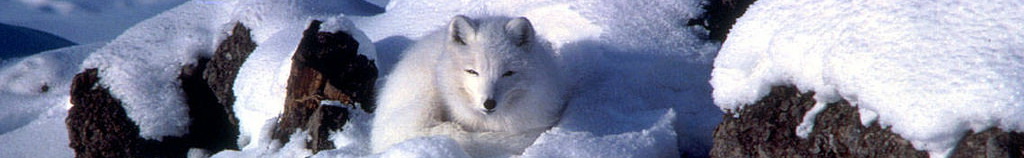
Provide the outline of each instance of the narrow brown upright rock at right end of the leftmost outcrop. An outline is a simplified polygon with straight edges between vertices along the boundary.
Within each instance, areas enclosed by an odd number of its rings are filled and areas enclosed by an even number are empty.
[[[220,42],[213,58],[206,65],[203,71],[203,78],[206,79],[210,89],[217,96],[217,103],[223,106],[227,112],[231,124],[238,125],[238,118],[234,117],[234,78],[239,74],[239,69],[246,62],[249,54],[256,49],[256,42],[253,42],[249,28],[245,25],[236,24],[231,31],[231,36]]]

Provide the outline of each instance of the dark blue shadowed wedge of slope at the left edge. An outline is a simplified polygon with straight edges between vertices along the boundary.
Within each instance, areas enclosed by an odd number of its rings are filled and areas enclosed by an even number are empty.
[[[0,60],[28,56],[38,52],[75,45],[46,32],[0,24]]]

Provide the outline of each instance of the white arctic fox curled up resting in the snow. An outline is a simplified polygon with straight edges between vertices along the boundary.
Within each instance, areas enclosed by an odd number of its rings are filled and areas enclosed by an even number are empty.
[[[452,18],[406,51],[378,95],[374,153],[446,135],[474,157],[521,154],[563,109],[550,45],[525,17]]]

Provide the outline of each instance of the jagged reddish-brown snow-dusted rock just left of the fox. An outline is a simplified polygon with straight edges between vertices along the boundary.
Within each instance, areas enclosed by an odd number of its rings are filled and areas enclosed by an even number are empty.
[[[373,108],[377,67],[358,54],[359,43],[351,35],[319,32],[321,22],[313,21],[303,32],[302,41],[292,57],[285,112],[271,136],[289,142],[296,129],[310,133],[307,147],[313,153],[334,149],[329,131],[338,130],[348,118],[345,108],[323,106],[322,101]]]

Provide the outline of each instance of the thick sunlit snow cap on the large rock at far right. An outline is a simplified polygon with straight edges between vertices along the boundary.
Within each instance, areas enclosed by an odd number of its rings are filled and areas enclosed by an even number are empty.
[[[933,157],[968,131],[1024,130],[1024,2],[756,2],[715,58],[715,104],[775,85],[849,101]],[[816,106],[817,107],[817,106]],[[806,120],[806,119],[805,119]]]

